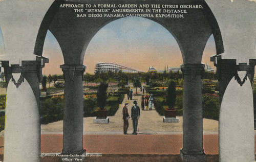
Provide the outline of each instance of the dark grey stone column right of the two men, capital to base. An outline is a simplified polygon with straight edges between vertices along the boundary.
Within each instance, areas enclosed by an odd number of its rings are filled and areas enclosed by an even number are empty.
[[[203,149],[202,73],[204,64],[184,64],[183,148],[184,161],[205,161]]]

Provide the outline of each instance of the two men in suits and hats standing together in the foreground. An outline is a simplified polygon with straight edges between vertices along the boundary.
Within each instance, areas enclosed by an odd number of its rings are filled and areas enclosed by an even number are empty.
[[[132,107],[132,120],[133,120],[133,135],[137,135],[138,120],[140,118],[140,107],[137,105],[137,101],[134,101],[134,106]],[[123,107],[123,134],[127,134],[127,129],[129,126],[128,120],[130,115],[128,113],[129,103],[125,102]]]

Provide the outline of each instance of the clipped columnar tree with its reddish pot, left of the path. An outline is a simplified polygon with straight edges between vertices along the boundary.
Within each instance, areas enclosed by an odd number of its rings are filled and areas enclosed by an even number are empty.
[[[97,109],[97,118],[96,119],[106,119],[107,113],[106,113],[106,89],[108,89],[109,84],[106,82],[102,82],[99,85],[99,89],[97,91],[97,103],[99,106],[99,109]]]

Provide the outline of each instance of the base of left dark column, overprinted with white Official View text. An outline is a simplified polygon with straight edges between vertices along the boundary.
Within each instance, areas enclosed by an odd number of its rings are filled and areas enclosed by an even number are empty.
[[[86,150],[82,150],[80,153],[61,153],[61,156],[59,157],[59,161],[61,162],[67,162],[67,161],[79,161],[82,162],[84,159],[86,159]]]

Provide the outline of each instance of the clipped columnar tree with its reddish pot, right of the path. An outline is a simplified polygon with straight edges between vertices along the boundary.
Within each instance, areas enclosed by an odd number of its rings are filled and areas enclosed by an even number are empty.
[[[175,101],[176,101],[176,84],[171,81],[168,84],[166,101],[168,107],[165,108],[165,118],[176,118],[176,109],[175,109]]]

